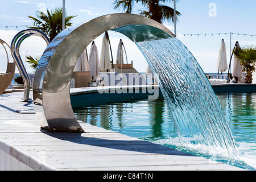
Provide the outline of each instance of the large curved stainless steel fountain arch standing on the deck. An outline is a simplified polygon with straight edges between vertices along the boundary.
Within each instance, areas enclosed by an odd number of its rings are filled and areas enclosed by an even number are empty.
[[[172,38],[174,34],[155,20],[134,14],[110,14],[69,27],[48,45],[36,68],[33,94],[40,126],[56,132],[83,132],[73,114],[69,88],[82,51],[108,30],[133,42]]]

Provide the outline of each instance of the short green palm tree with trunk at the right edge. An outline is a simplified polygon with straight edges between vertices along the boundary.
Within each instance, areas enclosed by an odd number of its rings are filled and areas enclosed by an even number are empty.
[[[240,59],[242,71],[246,72],[245,82],[253,82],[253,72],[256,64],[256,49],[251,47],[236,48],[234,54]]]

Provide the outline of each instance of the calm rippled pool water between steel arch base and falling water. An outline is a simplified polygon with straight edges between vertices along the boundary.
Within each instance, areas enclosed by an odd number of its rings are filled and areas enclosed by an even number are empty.
[[[164,100],[142,100],[73,109],[76,117],[90,125],[137,138],[176,136]]]

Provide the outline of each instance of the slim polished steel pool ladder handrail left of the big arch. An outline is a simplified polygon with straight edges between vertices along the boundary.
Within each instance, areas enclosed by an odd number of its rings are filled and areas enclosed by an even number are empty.
[[[47,45],[49,44],[50,40],[47,37],[46,34],[44,34],[42,31],[33,29],[33,28],[28,28],[26,30],[22,30],[16,34],[11,42],[11,55],[14,57],[14,62],[16,66],[19,69],[19,73],[22,76],[24,80],[24,97],[23,101],[25,102],[30,102],[29,100],[29,95],[30,95],[30,79],[27,75],[26,68],[24,67],[24,64],[22,62],[22,59],[19,55],[19,47],[20,44],[23,42],[24,39],[30,37],[31,35],[36,35],[41,38],[43,38]]]

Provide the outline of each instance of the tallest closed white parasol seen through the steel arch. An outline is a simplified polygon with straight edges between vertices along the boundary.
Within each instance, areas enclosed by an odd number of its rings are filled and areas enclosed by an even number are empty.
[[[101,72],[106,72],[108,69],[111,69],[111,61],[109,54],[109,41],[107,35],[105,34],[102,39],[102,48],[101,48],[101,58],[99,68]]]

